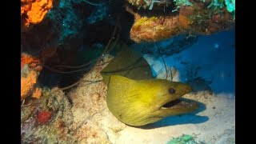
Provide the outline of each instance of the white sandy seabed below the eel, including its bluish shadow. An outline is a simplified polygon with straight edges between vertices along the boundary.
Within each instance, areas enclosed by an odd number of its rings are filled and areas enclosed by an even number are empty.
[[[208,98],[206,98],[206,95]],[[182,134],[197,136],[196,141],[216,143],[226,134],[224,143],[234,139],[234,99],[224,98],[221,95],[213,96],[207,93],[190,94],[189,97],[199,98],[199,102],[206,104],[206,110],[196,114],[174,116],[156,122],[147,129],[126,126],[122,130],[116,143],[166,143],[172,137]],[[201,98],[200,98],[201,97]],[[213,109],[215,107],[215,109]],[[200,117],[202,116],[202,117]],[[222,138],[223,139],[223,138]],[[232,142],[230,142],[232,143]]]

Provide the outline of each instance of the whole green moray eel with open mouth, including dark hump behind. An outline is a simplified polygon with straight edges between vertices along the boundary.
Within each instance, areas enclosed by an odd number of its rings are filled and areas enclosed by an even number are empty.
[[[189,85],[153,78],[146,60],[130,49],[122,50],[101,74],[110,112],[127,125],[143,126],[198,108],[181,98],[191,91]]]

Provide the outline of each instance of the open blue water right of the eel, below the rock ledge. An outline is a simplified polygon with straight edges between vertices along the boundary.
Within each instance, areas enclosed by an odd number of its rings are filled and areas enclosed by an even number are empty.
[[[165,60],[179,70],[180,81],[187,80],[188,67],[182,64],[186,62],[201,68],[197,76],[211,81],[209,86],[215,94],[235,95],[235,30],[198,36],[194,45]]]

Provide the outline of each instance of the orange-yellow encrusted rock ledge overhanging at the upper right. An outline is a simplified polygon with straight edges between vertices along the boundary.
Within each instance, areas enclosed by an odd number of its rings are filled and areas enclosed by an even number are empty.
[[[143,6],[136,1],[136,5]],[[164,1],[149,1],[164,2]],[[134,4],[134,2],[132,2]],[[179,5],[178,5],[179,4]],[[130,29],[130,38],[134,42],[156,42],[178,34],[212,34],[234,26],[234,14],[223,8],[211,6],[209,2],[193,1],[190,4],[172,4],[169,9],[136,10],[126,5],[126,10],[134,15],[134,25]],[[148,6],[146,4],[146,6]],[[157,9],[157,6],[155,6]]]

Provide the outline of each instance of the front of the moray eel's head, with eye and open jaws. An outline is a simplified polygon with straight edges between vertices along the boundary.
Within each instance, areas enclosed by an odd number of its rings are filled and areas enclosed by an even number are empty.
[[[198,104],[190,99],[182,98],[184,94],[191,91],[191,86],[182,82],[170,82],[157,80],[154,117],[164,118],[176,114],[184,114],[198,108]],[[158,87],[158,88],[157,88]]]

